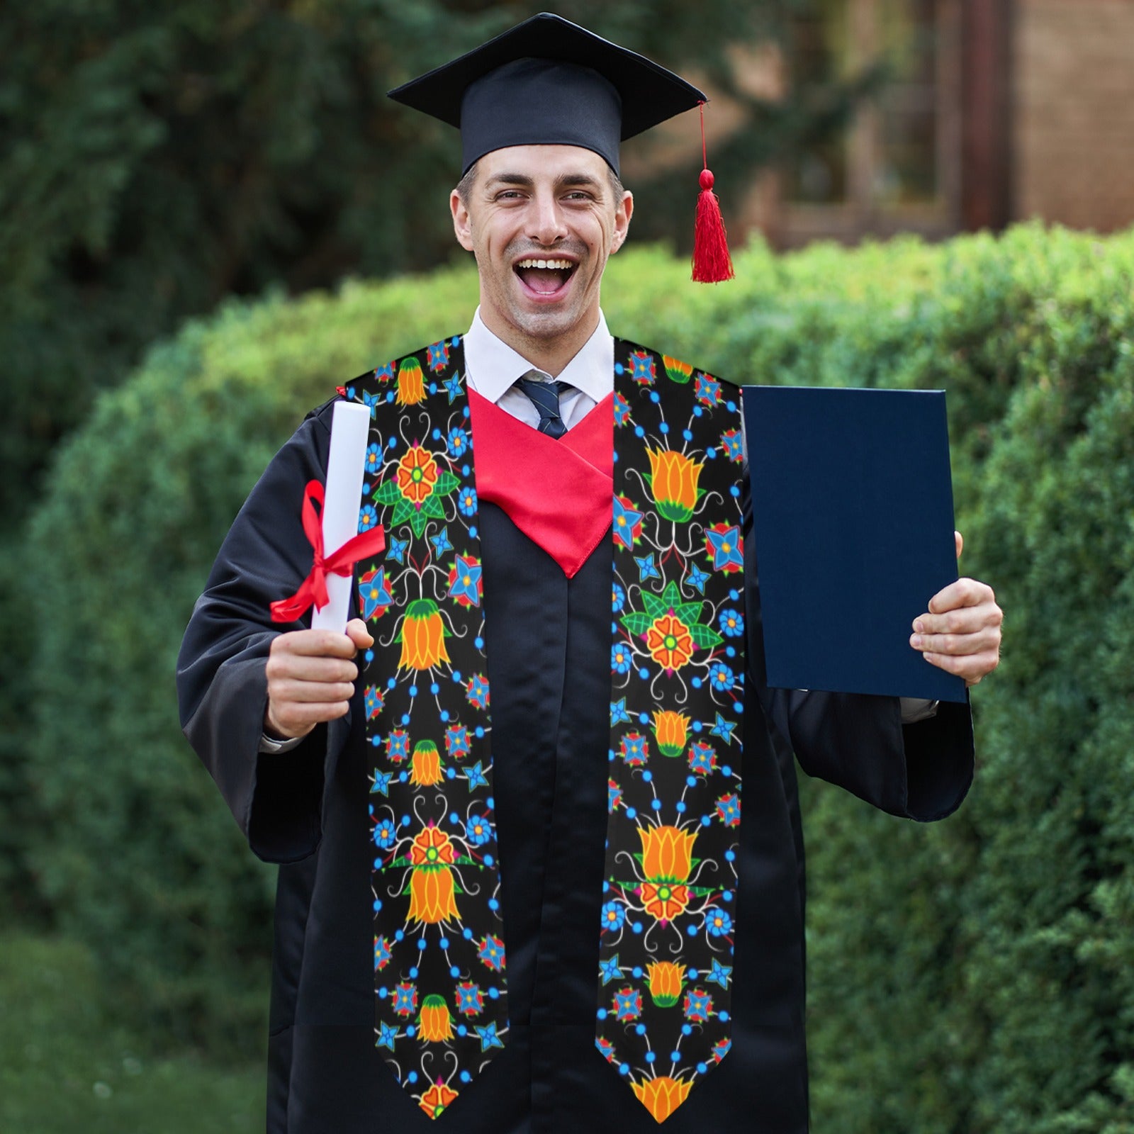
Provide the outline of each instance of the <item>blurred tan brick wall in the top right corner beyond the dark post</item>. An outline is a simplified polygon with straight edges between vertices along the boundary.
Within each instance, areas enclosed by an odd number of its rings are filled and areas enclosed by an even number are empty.
[[[1134,0],[1016,0],[1013,213],[1134,225]]]

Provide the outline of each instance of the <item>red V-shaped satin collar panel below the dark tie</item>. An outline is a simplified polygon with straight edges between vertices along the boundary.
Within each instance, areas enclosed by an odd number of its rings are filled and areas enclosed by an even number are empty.
[[[477,497],[503,508],[568,578],[610,527],[613,397],[608,393],[556,440],[468,391]]]

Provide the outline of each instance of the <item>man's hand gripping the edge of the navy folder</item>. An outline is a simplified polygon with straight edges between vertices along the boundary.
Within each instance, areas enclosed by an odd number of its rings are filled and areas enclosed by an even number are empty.
[[[957,558],[964,540],[955,532]],[[1004,611],[992,587],[974,578],[958,578],[929,600],[929,610],[914,619],[909,644],[926,661],[975,685],[1000,663]]]

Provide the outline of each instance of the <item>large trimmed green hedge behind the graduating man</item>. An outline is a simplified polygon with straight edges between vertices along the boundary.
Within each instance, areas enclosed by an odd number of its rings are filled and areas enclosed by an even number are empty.
[[[1134,234],[607,273],[610,325],[717,373],[945,388],[963,566],[1007,611],[979,770],[917,827],[804,785],[819,1134],[1134,1131]],[[162,1027],[255,1046],[270,873],[181,741],[171,674],[264,462],[344,378],[460,330],[468,268],[234,304],[151,353],[35,517],[33,863]]]

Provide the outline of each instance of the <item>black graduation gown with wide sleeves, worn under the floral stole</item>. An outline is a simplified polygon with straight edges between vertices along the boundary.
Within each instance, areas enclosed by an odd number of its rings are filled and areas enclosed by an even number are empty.
[[[303,485],[322,481],[330,404],[308,415],[222,545],[178,665],[185,731],[252,849],[280,863],[270,1040],[272,1134],[435,1131],[373,1038],[363,711],[257,754],[269,603],[306,574]],[[646,1134],[653,1118],[594,1047],[607,821],[611,545],[567,579],[481,503],[496,814],[508,954],[503,1052],[439,1119],[462,1134]],[[751,525],[750,525],[751,527]],[[966,705],[903,727],[897,699],[769,691],[748,534],[748,699],[733,1049],[667,1134],[807,1128],[804,769],[897,815],[953,811],[973,770]],[[361,691],[359,691],[361,697]]]

